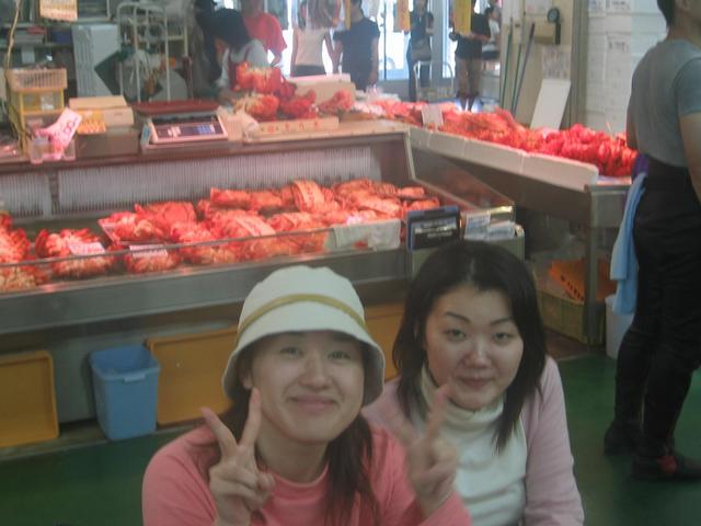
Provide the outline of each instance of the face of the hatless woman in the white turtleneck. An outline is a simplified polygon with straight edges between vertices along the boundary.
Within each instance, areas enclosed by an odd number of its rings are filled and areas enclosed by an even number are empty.
[[[449,382],[452,402],[478,411],[516,377],[524,341],[505,294],[460,285],[435,301],[424,348],[436,384]]]

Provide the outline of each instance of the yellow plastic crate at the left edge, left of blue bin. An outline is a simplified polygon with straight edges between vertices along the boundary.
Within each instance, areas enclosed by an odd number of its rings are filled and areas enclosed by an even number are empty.
[[[51,356],[46,351],[0,356],[0,447],[57,436]]]

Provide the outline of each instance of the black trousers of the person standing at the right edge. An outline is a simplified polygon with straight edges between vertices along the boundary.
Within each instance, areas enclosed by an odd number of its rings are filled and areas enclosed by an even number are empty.
[[[643,450],[664,454],[701,364],[701,204],[689,173],[651,159],[633,224],[637,305],[618,356],[616,419],[643,415]]]

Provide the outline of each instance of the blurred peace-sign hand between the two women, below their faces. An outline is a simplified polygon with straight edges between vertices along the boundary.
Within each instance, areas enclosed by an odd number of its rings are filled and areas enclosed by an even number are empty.
[[[426,517],[438,510],[453,491],[458,454],[439,434],[446,420],[447,403],[446,385],[436,391],[423,435],[402,413],[393,414],[389,421],[390,428],[406,449],[409,480]]]

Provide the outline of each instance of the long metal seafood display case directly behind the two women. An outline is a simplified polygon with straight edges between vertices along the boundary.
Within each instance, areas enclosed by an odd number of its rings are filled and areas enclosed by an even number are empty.
[[[223,149],[180,148],[37,167],[3,164],[0,195],[14,226],[25,229],[30,239],[39,228],[95,229],[97,218],[130,209],[135,203],[196,202],[208,196],[212,186],[267,188],[302,179],[327,185],[359,178],[399,186],[424,185],[444,204],[463,210],[487,208],[495,216],[514,218],[512,201],[480,181],[461,192],[459,185],[424,179],[429,167],[423,161],[415,173],[404,127],[364,123],[348,129],[345,136],[327,134],[326,138]],[[467,173],[453,175],[470,180]],[[474,198],[480,203],[473,203]],[[59,421],[82,420],[94,414],[85,365],[91,351],[230,325],[253,285],[274,268],[292,263],[327,265],[347,276],[366,305],[401,300],[415,261],[420,260],[400,245],[50,282],[0,294],[0,354],[49,351],[56,367]]]

